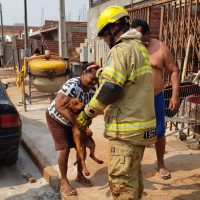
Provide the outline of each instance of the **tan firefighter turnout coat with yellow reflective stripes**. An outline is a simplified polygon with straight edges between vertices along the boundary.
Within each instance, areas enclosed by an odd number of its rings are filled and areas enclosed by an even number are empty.
[[[149,145],[156,139],[154,91],[150,58],[140,37],[139,32],[130,29],[110,50],[99,73],[100,87],[86,111],[88,114],[92,109],[97,115],[107,106],[97,98],[105,82],[122,87],[120,96],[106,110],[105,137]]]

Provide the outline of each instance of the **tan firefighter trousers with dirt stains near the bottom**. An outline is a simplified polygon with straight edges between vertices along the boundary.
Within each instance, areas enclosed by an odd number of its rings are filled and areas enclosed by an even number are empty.
[[[141,160],[145,146],[109,141],[108,176],[114,200],[139,200],[143,192]]]

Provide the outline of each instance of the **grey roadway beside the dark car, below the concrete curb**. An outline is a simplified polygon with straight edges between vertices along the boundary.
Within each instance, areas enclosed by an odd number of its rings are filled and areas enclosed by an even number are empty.
[[[30,173],[36,182],[28,182],[23,173]],[[22,147],[16,165],[0,166],[0,200],[58,200],[58,197]]]

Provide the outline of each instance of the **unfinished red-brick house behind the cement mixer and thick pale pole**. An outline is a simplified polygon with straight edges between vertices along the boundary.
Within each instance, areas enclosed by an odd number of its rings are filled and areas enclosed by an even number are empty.
[[[86,22],[66,22],[66,43],[69,55],[80,46],[80,43],[84,42],[86,37]],[[29,39],[32,49],[36,47],[41,51],[48,49],[58,54],[58,21],[45,20],[45,24],[40,30],[29,34]]]

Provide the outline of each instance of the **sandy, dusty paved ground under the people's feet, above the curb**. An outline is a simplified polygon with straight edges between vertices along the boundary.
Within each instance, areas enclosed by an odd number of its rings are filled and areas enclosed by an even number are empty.
[[[37,93],[33,92],[33,95],[35,95],[33,103],[28,105],[28,111],[24,112],[23,106],[19,104],[19,89],[10,87],[8,93],[20,111],[24,136],[31,140],[59,175],[57,152],[54,149],[53,140],[45,119],[45,110],[49,105],[49,99],[36,97]],[[90,179],[94,183],[94,187],[85,188],[74,181],[76,177],[75,151],[72,150],[70,154],[68,177],[79,193],[79,200],[112,199],[107,182],[108,141],[103,137],[103,127],[103,116],[93,120],[91,128],[96,142],[96,156],[104,160],[103,165],[98,165],[89,157],[86,159],[86,165],[91,172]],[[180,141],[178,135],[172,135],[167,137],[165,160],[168,169],[172,173],[172,178],[169,180],[162,180],[157,173],[154,146],[146,148],[142,161],[145,185],[143,200],[199,200],[199,150],[189,149],[187,142]]]

